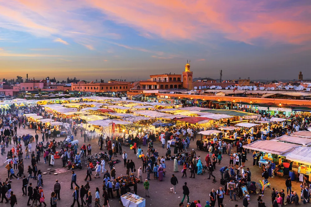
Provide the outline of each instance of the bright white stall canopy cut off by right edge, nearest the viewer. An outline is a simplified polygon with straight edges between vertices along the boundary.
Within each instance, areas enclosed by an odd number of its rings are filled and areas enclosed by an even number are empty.
[[[311,165],[311,147],[298,147],[286,155],[287,160]]]

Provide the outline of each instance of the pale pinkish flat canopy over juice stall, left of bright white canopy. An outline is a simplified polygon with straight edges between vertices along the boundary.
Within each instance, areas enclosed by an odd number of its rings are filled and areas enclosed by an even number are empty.
[[[276,142],[272,140],[258,140],[243,146],[245,149],[268,152],[276,155],[282,155],[283,153],[288,152],[296,147],[299,147],[299,145],[285,142]]]

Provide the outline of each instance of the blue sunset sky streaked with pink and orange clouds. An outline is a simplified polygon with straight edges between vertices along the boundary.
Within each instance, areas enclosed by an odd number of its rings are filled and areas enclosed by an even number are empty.
[[[0,0],[0,79],[311,78],[310,0]]]

